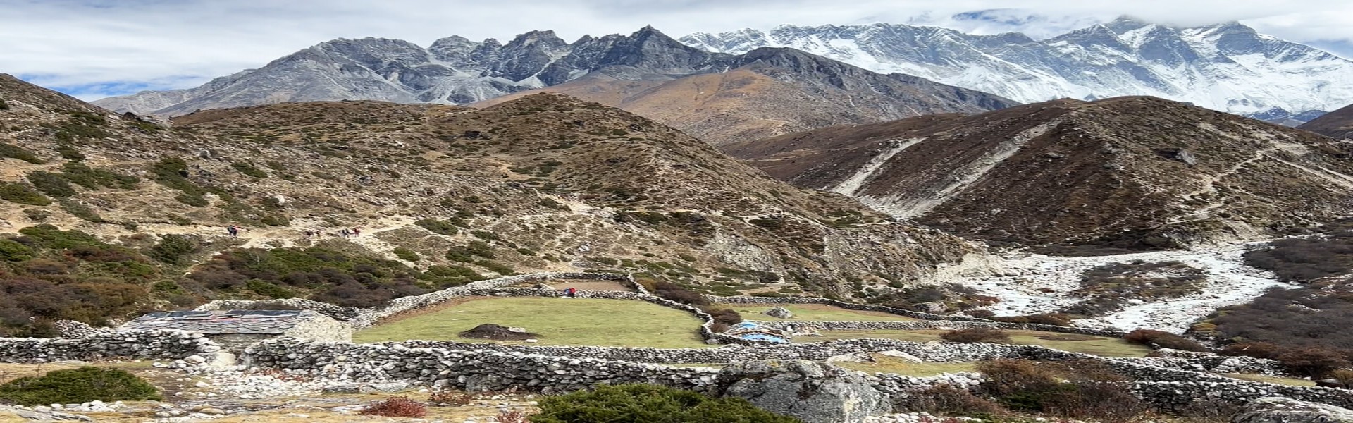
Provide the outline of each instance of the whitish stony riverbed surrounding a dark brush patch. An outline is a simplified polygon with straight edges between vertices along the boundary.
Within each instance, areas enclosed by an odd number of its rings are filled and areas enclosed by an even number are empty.
[[[1130,305],[1116,313],[1074,321],[1081,327],[1131,331],[1149,328],[1181,334],[1189,324],[1218,308],[1242,304],[1273,287],[1292,287],[1279,282],[1269,271],[1245,266],[1241,255],[1258,243],[1231,244],[1200,251],[1153,251],[1093,258],[1053,258],[1027,255],[1001,263],[1007,271],[997,277],[958,281],[984,294],[1001,298],[990,306],[997,316],[1039,315],[1057,312],[1081,298],[1070,291],[1080,287],[1081,273],[1109,263],[1181,262],[1203,270],[1207,283],[1200,294],[1158,302]]]

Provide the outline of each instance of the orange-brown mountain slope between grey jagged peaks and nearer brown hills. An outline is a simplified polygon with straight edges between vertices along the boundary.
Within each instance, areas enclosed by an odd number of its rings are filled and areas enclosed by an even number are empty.
[[[881,75],[792,49],[758,49],[728,70],[675,80],[591,76],[507,95],[559,92],[620,107],[720,145],[833,125],[934,113],[981,113],[1017,103],[900,73]]]

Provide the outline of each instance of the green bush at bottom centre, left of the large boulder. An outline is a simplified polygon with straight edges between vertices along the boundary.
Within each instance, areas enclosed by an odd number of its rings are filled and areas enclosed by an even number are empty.
[[[710,399],[658,385],[601,385],[540,401],[532,423],[801,423],[756,408],[744,399]]]

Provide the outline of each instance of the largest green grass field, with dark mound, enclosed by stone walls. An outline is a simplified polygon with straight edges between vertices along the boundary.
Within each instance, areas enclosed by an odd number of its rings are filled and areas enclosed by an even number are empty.
[[[456,334],[484,323],[522,327],[549,346],[708,347],[690,313],[644,301],[594,298],[479,298],[383,321],[353,334],[353,342],[463,340]],[[513,342],[521,343],[521,342]]]

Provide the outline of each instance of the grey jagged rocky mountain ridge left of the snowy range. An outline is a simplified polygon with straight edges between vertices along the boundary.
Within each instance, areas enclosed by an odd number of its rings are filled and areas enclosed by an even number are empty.
[[[851,66],[783,49],[746,54],[708,53],[682,45],[652,27],[630,35],[583,37],[572,43],[552,31],[521,34],[506,45],[494,39],[474,42],[449,37],[428,49],[398,39],[336,39],[198,88],[141,92],[101,99],[95,104],[162,115],[310,100],[464,104],[579,79],[637,81],[632,87],[652,87],[686,76],[716,75],[752,65],[782,69],[785,79],[812,79],[820,89],[844,91],[836,96],[846,102],[859,96],[867,104],[854,107],[866,108],[861,111],[870,117],[863,119],[866,122],[923,113],[977,113],[1015,104],[984,92],[916,77],[846,69]],[[856,88],[861,92],[851,91]],[[879,98],[882,100],[877,102]],[[877,113],[870,107],[878,108]],[[762,136],[779,133],[785,132]]]

